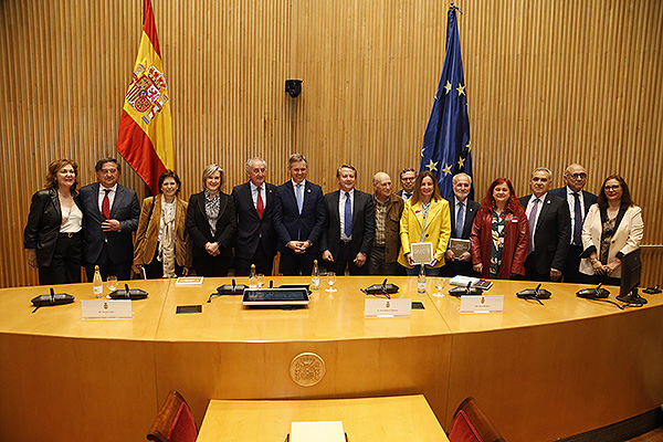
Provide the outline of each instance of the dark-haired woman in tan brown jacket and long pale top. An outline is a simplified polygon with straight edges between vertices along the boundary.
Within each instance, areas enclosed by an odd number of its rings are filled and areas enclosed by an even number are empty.
[[[148,278],[189,274],[191,254],[186,233],[187,201],[177,196],[180,179],[172,170],[159,176],[160,194],[143,200],[134,246],[134,270]]]

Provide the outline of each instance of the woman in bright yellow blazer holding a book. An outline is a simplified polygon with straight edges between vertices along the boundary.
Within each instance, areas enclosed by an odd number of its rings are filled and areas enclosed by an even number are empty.
[[[444,252],[451,236],[449,202],[440,196],[438,179],[424,170],[417,177],[414,192],[406,201],[400,221],[401,250],[398,262],[408,275],[418,275],[419,265],[412,261],[410,244],[433,244],[433,261],[425,265],[425,274],[436,276],[444,265]]]

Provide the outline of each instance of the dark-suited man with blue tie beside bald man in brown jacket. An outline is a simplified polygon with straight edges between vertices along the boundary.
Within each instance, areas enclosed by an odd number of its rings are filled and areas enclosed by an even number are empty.
[[[336,170],[339,190],[325,194],[327,219],[320,248],[327,269],[338,275],[349,267],[351,275],[368,272],[366,260],[376,233],[372,197],[355,189],[357,169],[343,165]]]

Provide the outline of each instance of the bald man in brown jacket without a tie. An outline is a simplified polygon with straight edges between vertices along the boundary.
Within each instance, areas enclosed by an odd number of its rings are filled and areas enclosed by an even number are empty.
[[[368,257],[368,273],[371,275],[397,275],[396,262],[400,249],[400,217],[403,212],[403,199],[391,193],[391,178],[385,172],[373,176],[373,207],[376,235]]]

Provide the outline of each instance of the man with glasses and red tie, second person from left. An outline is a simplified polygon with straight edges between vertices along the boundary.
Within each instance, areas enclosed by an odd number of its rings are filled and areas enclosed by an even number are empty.
[[[94,266],[99,266],[102,278],[116,275],[128,280],[131,275],[134,242],[131,232],[138,228],[140,206],[131,189],[118,185],[119,164],[115,158],[99,159],[94,169],[98,182],[81,188],[85,232],[85,262],[87,281],[92,282]]]

